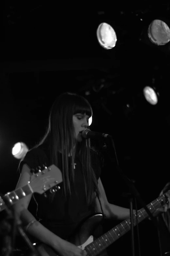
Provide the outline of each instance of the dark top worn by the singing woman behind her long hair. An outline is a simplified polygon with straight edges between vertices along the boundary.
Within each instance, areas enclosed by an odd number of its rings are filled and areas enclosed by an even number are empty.
[[[61,153],[58,157],[61,160]],[[91,154],[92,167],[95,171],[96,179],[98,180],[101,174],[100,160],[96,153]],[[67,200],[64,195],[63,183],[60,183],[58,190],[53,200],[45,198],[43,195],[34,194],[35,200],[38,203],[37,218],[50,231],[63,239],[69,239],[74,233],[79,224],[88,216],[95,213],[94,207],[88,206],[85,196],[85,183],[82,173],[82,167],[79,157],[75,157],[75,184],[71,184],[71,197]],[[46,163],[47,167],[52,165],[50,162],[49,151],[43,145],[32,149],[26,153],[23,161],[20,163],[20,171],[23,164],[27,164],[30,168],[36,168]],[[58,168],[62,172],[62,167],[59,164]],[[70,170],[69,170],[70,171]]]

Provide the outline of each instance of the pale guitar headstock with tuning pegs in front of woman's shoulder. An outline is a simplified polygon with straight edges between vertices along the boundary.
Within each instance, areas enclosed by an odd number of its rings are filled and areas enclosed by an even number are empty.
[[[57,190],[58,184],[63,181],[62,173],[58,167],[51,165],[49,167],[44,166],[44,169],[41,170],[38,168],[38,172],[31,176],[31,181],[29,185],[31,186],[33,193],[37,192],[43,194],[47,190],[55,192]],[[53,188],[55,186],[55,188]]]

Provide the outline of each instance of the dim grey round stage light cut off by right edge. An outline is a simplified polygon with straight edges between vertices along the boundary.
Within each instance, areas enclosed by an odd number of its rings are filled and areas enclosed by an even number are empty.
[[[151,42],[157,45],[165,45],[170,41],[170,29],[161,20],[152,21],[148,27],[147,34]]]

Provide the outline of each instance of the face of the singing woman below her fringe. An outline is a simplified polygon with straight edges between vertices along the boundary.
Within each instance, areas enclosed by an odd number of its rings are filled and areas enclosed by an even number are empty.
[[[89,118],[89,116],[81,113],[73,115],[73,126],[78,142],[82,141],[82,135],[80,132],[84,131],[88,127]]]

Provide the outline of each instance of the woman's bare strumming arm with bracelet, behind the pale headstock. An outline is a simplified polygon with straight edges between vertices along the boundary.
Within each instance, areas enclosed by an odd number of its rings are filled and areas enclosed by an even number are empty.
[[[17,188],[20,188],[30,181],[30,168],[27,165],[23,165],[21,176],[19,182],[17,184]],[[31,200],[31,195],[23,198],[22,200],[18,201],[14,204],[14,211],[15,216],[20,218],[23,225],[27,226],[30,221],[35,219],[35,217],[28,211],[28,205]],[[68,241],[63,240],[59,236],[55,235],[53,232],[45,228],[42,224],[38,221],[32,223],[29,227],[27,232],[32,236],[39,239],[42,242],[42,246],[39,246],[39,253],[41,255],[49,255],[43,249],[43,245],[46,244],[52,247],[55,251],[57,251],[62,256],[87,256],[85,250],[78,248],[77,246],[69,243]],[[50,248],[48,248],[49,250]],[[50,249],[51,250],[51,249]],[[54,254],[54,252],[53,252]]]

